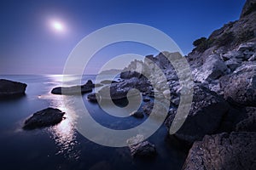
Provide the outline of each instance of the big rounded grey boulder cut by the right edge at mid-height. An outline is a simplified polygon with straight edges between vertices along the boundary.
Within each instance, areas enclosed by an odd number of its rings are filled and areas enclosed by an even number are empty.
[[[224,98],[236,104],[256,106],[256,64],[243,63],[232,74],[220,78]]]

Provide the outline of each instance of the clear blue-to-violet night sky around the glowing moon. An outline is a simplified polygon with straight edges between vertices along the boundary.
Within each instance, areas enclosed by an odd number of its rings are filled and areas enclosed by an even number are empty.
[[[238,20],[245,0],[169,1],[39,1],[0,3],[0,74],[61,74],[68,54],[92,31],[118,23],[140,23],[164,31],[188,54],[192,42],[208,37],[225,23]],[[49,20],[61,20],[65,32],[56,32]],[[121,44],[102,50],[97,65],[113,55],[154,54],[150,48]],[[102,63],[101,63],[102,62]]]

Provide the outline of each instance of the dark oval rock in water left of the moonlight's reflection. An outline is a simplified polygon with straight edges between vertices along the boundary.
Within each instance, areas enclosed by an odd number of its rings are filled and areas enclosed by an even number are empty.
[[[62,121],[64,114],[64,112],[58,109],[49,107],[47,109],[34,113],[31,117],[26,119],[23,128],[34,129],[53,126]]]

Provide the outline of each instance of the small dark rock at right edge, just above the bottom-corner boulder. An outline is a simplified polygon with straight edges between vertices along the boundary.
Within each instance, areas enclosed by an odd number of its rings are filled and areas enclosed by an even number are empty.
[[[247,118],[236,124],[236,131],[256,132],[256,108],[247,107]]]

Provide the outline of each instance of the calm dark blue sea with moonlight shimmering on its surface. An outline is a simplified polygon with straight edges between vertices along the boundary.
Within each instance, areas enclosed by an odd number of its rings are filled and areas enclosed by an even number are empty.
[[[21,128],[23,122],[32,113],[49,106],[66,111],[68,105],[64,106],[62,99],[68,98],[72,105],[75,97],[49,93],[52,88],[61,86],[61,77],[56,75],[0,78],[28,85],[26,96],[0,101],[1,169],[181,169],[183,165],[186,150],[175,139],[166,138],[164,126],[149,138],[158,152],[153,160],[135,160],[127,147],[112,148],[85,139],[74,127],[75,111],[67,111],[66,119],[54,127],[24,131]],[[84,76],[82,82],[94,78]],[[88,102],[86,95],[84,104],[90,114],[106,127],[125,129],[143,122],[134,117],[124,119],[108,116],[97,104]]]

